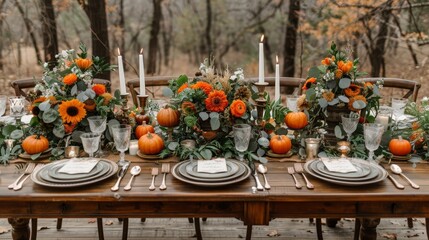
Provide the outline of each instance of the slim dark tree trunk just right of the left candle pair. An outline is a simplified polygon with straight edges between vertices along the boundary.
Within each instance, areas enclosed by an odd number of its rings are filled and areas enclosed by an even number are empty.
[[[153,16],[150,30],[149,39],[149,64],[146,68],[147,74],[156,73],[157,56],[159,51],[158,34],[161,22],[161,2],[162,0],[152,0],[153,2]]]

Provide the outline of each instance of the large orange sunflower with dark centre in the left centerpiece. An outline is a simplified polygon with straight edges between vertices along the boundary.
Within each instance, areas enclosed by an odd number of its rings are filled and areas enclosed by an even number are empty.
[[[63,122],[77,124],[86,116],[85,104],[77,99],[64,101],[58,108]]]

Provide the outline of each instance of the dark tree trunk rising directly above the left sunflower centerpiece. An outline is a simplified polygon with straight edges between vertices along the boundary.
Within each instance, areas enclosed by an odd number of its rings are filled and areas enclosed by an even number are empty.
[[[40,0],[40,18],[43,32],[43,50],[45,62],[49,68],[56,66],[55,54],[58,53],[57,24],[55,22],[54,7],[52,0]]]

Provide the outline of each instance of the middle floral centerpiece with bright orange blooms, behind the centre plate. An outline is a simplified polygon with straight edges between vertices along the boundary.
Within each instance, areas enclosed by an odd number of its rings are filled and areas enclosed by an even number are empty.
[[[173,132],[174,141],[167,144],[163,154],[173,152],[181,159],[235,157],[232,127],[245,123],[252,126],[246,158],[266,161],[263,155],[269,146],[268,135],[255,120],[252,96],[257,94],[251,83],[245,81],[242,69],[219,74],[206,60],[193,78],[182,75],[170,81],[164,95],[171,97],[169,107],[180,112],[180,122]],[[277,115],[283,122],[285,113]],[[195,142],[196,147],[182,146],[184,140]]]

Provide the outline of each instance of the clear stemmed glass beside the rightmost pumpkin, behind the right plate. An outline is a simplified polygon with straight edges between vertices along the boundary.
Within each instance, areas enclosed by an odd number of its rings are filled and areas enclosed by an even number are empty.
[[[380,146],[384,132],[384,126],[378,123],[365,123],[363,125],[365,147],[369,151],[368,160],[374,161],[374,151]]]

